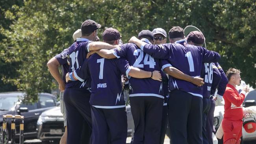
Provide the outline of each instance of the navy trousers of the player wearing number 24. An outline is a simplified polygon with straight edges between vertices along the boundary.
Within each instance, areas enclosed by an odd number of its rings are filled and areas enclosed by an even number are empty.
[[[130,97],[134,118],[134,137],[131,144],[159,144],[163,99],[156,96]]]

